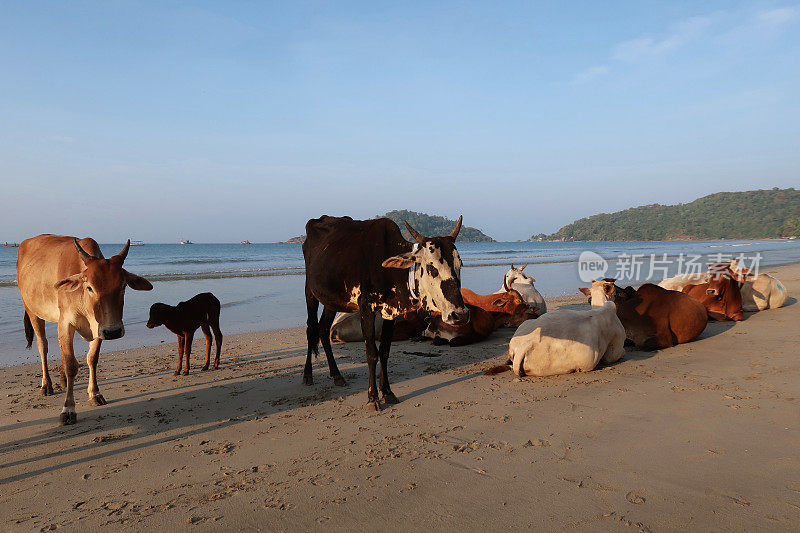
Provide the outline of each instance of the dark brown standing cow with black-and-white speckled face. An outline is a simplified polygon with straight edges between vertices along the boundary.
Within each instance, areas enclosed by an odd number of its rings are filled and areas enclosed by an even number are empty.
[[[394,319],[423,308],[440,312],[445,322],[462,324],[469,318],[461,298],[461,258],[455,240],[461,217],[446,237],[424,237],[407,222],[413,245],[388,218],[353,220],[323,216],[306,224],[303,257],[306,264],[308,354],[303,383],[313,383],[311,354],[320,340],[336,385],[346,385],[333,358],[330,327],[337,312],[361,314],[361,330],[369,367],[368,403],[380,409],[376,364],[381,362],[383,401],[397,403],[389,387],[387,361],[394,334]],[[409,268],[414,269],[409,272]],[[319,304],[324,309],[317,319]],[[380,349],[375,346],[375,315],[384,318]]]

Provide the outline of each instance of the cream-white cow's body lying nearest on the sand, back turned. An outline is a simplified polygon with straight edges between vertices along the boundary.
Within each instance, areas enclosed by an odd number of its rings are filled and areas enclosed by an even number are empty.
[[[524,322],[508,346],[518,376],[588,372],[625,354],[625,328],[614,302],[588,310],[557,309]]]

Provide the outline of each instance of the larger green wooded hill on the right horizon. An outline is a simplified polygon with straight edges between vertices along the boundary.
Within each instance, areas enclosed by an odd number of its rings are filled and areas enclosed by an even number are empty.
[[[800,191],[718,192],[688,204],[644,205],[576,220],[547,240],[763,239],[800,235]]]

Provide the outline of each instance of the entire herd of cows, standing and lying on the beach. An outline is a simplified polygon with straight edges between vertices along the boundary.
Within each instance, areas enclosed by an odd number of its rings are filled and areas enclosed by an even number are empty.
[[[655,350],[689,342],[703,332],[709,318],[742,320],[743,311],[780,307],[786,300],[778,280],[732,261],[710,265],[703,274],[646,283],[638,289],[621,288],[610,278],[597,280],[580,289],[589,297],[590,309],[547,312],[535,279],[523,272],[525,266],[512,265],[495,294],[478,295],[461,287],[461,259],[455,246],[461,221],[442,237],[423,236],[406,222],[413,244],[386,218],[323,216],[308,221],[303,244],[308,311],[304,384],[313,384],[311,358],[321,343],[334,384],[346,385],[333,357],[332,339],[365,343],[368,405],[380,410],[381,402],[398,401],[387,369],[393,340],[430,338],[437,344],[462,346],[485,339],[497,328],[516,327],[508,363],[487,373],[512,368],[519,376],[550,376],[589,371],[601,361],[612,363],[622,357],[626,343]],[[66,389],[62,424],[77,419],[74,334],[90,343],[89,401],[103,405],[106,401],[96,379],[100,344],[124,335],[125,288],[153,288],[122,268],[129,246],[130,241],[106,259],[88,238],[40,235],[20,244],[17,283],[25,307],[25,333],[28,346],[36,336],[45,395],[53,388],[44,323],[58,324],[61,382]],[[204,293],[175,307],[153,304],[147,326],[162,324],[178,335],[176,374],[184,356],[184,373],[189,371],[192,336],[198,327],[206,336],[203,369],[209,367],[211,330],[217,347],[214,368],[218,367],[222,335],[219,301],[213,295]]]

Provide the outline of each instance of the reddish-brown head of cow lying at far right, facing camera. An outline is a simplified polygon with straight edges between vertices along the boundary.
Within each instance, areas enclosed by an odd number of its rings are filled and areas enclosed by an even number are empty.
[[[744,320],[741,288],[746,274],[733,272],[729,263],[710,265],[708,274],[706,282],[686,285],[683,292],[703,304],[714,320]]]

